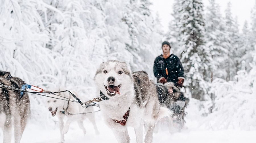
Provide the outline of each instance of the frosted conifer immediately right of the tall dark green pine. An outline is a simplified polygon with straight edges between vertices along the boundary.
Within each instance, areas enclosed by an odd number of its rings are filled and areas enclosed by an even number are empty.
[[[228,51],[224,48],[226,45],[225,37],[226,33],[223,31],[224,23],[220,14],[220,7],[216,4],[215,0],[210,0],[210,5],[207,7],[205,14],[205,21],[207,21],[205,41],[206,46],[210,48],[212,56],[211,61],[211,82],[214,78],[223,78],[226,75],[225,72],[219,69],[223,69],[223,63],[226,60]]]

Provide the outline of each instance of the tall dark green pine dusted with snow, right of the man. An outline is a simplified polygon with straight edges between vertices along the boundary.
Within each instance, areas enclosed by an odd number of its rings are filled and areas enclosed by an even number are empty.
[[[176,0],[174,31],[181,49],[181,62],[193,98],[204,100],[210,81],[210,49],[205,46],[205,23],[201,0]],[[175,34],[175,33],[174,33]]]

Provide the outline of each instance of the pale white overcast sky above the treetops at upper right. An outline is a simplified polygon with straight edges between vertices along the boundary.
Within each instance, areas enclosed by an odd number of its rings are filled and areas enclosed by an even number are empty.
[[[164,29],[168,29],[168,23],[172,20],[172,5],[174,0],[151,0],[153,5],[151,9],[154,12],[158,12],[160,19],[162,21],[162,25]],[[216,3],[220,5],[222,15],[224,15],[224,11],[227,7],[227,3],[230,1],[232,3],[232,14],[233,16],[238,16],[238,22],[240,29],[242,29],[245,20],[250,21],[251,9],[255,5],[256,0],[215,0]],[[209,4],[208,0],[203,0],[204,10],[206,6]]]

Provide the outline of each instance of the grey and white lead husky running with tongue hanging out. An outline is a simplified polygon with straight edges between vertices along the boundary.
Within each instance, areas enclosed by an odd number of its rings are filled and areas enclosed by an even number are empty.
[[[132,73],[124,62],[107,61],[100,65],[94,80],[103,99],[100,102],[102,114],[118,142],[130,142],[127,126],[131,126],[135,129],[137,143],[142,143],[145,121],[149,128],[144,142],[152,143],[155,123],[167,112],[160,110],[156,85],[147,73]]]

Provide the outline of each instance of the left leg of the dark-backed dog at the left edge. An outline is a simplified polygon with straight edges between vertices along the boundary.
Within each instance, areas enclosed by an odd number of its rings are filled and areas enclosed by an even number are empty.
[[[3,128],[3,143],[10,143],[12,137],[12,121],[8,117],[5,120],[5,125]]]

